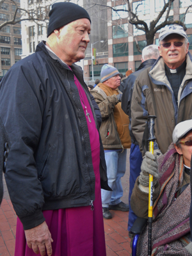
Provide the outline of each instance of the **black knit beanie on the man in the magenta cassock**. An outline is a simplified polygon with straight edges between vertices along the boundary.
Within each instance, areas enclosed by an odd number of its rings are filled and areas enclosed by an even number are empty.
[[[91,22],[90,15],[83,7],[68,2],[52,4],[49,12],[49,26],[47,29],[47,37],[51,35],[54,29],[61,28],[68,23],[78,19],[88,19]]]

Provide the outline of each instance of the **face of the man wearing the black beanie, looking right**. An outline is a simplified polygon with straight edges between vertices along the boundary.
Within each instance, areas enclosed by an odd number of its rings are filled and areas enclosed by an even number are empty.
[[[91,25],[88,19],[78,19],[56,29],[54,32],[57,36],[61,60],[72,64],[83,59],[88,42],[90,42],[90,31]]]

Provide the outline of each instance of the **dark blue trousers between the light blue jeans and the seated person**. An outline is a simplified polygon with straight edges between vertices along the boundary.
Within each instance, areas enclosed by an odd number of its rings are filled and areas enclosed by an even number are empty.
[[[129,220],[128,220],[128,230],[131,230],[131,227],[136,220],[137,216],[134,214],[134,212],[131,209],[131,195],[132,195],[132,189],[134,188],[134,184],[136,182],[137,177],[140,175],[141,172],[141,163],[142,163],[143,157],[140,151],[139,145],[131,144],[131,150],[130,150],[130,157],[129,157],[129,163],[130,163],[130,176],[129,176]]]

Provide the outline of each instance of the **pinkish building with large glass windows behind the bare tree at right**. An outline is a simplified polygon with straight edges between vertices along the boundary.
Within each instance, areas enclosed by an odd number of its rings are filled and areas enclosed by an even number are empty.
[[[143,0],[143,1],[130,1],[131,8],[135,12],[137,6],[138,17],[145,20],[147,24],[151,20],[157,17],[159,12],[163,8],[163,0]],[[189,6],[189,0],[175,0],[173,1],[169,20],[183,20],[186,8]],[[190,2],[191,3],[191,2]],[[138,5],[140,4],[140,5]],[[147,45],[145,35],[143,31],[136,29],[127,22],[128,13],[127,12],[115,12],[111,10],[110,7],[115,7],[116,10],[124,9],[127,10],[127,1],[117,0],[111,1],[107,0],[107,21],[108,21],[108,52],[105,52],[104,56],[98,54],[96,56],[97,63],[93,65],[94,80],[98,78],[100,73],[100,68],[104,63],[109,63],[114,67],[118,68],[119,72],[125,74],[128,69],[135,71],[141,63],[141,54],[137,51],[136,40],[140,45],[140,49]],[[164,14],[166,15],[166,13]],[[164,17],[162,17],[159,22],[162,22]],[[191,10],[186,15],[186,27],[187,34],[189,38],[189,51],[192,53],[192,21],[191,21]],[[154,44],[158,44],[159,33],[156,33],[154,37]],[[136,38],[136,40],[134,39]],[[92,80],[92,59],[90,54],[86,54],[86,60],[84,61],[84,72],[86,72],[87,77]]]

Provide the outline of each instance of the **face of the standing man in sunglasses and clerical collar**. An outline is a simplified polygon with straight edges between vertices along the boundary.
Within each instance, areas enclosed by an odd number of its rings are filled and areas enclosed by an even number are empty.
[[[175,47],[174,42],[182,42],[184,43],[180,47]],[[171,43],[170,47],[165,48],[162,44]],[[178,68],[186,59],[186,54],[188,53],[189,43],[186,44],[186,40],[184,37],[179,36],[177,34],[172,34],[166,36],[164,40],[160,41],[159,45],[159,54],[163,57],[164,63],[171,68]]]

